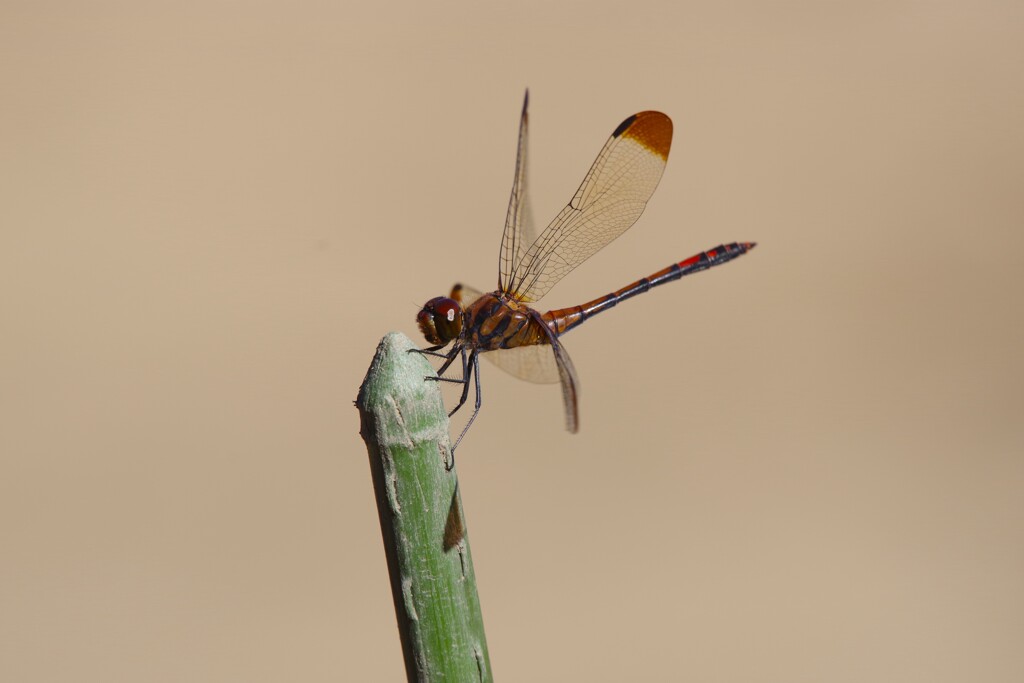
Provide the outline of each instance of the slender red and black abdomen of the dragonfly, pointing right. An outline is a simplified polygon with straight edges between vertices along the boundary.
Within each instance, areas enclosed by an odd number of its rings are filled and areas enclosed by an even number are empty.
[[[719,245],[714,249],[695,254],[679,263],[673,263],[667,268],[663,268],[646,278],[641,278],[635,283],[615,290],[611,294],[588,301],[581,306],[549,310],[543,316],[544,322],[556,335],[563,335],[572,328],[582,325],[584,321],[614,307],[621,301],[635,297],[638,294],[643,294],[658,285],[679,280],[683,275],[707,270],[708,268],[731,261],[737,256],[741,256],[754,249],[755,246],[757,244],[754,242],[733,242],[728,245]]]

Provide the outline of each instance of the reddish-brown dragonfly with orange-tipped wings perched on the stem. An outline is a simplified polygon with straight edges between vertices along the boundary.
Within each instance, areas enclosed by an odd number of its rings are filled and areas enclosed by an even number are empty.
[[[566,427],[575,432],[580,424],[579,382],[560,337],[621,301],[730,261],[755,247],[753,242],[720,245],[585,304],[546,313],[531,308],[528,304],[629,229],[643,213],[669,159],[672,120],[660,112],[640,112],[618,124],[572,200],[537,234],[526,191],[528,103],[527,92],[519,122],[512,199],[502,236],[498,289],[481,294],[456,285],[450,296],[431,299],[416,316],[420,331],[433,346],[414,350],[444,358],[437,377],[426,379],[463,385],[459,404],[450,417],[466,403],[470,378],[475,379],[473,415],[452,446],[453,454],[480,411],[481,353],[521,379],[561,383]],[[441,352],[449,344],[452,347]],[[462,378],[444,377],[456,359],[462,360]]]

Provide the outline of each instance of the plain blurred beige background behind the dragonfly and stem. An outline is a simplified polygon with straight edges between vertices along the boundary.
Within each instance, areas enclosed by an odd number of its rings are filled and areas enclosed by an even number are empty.
[[[1024,680],[1024,5],[0,8],[0,680],[402,677],[351,401],[673,117],[543,302],[739,261],[483,368],[460,453],[504,681]]]

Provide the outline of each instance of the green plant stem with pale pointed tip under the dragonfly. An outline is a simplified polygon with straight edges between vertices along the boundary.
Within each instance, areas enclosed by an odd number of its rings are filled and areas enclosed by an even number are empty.
[[[430,364],[387,335],[359,389],[360,433],[410,681],[492,681],[449,420]]]

